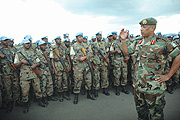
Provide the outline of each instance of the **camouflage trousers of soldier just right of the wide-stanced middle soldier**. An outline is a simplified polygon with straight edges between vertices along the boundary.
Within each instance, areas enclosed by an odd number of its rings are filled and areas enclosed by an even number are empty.
[[[106,66],[95,66],[94,74],[96,80],[93,80],[93,87],[95,90],[98,90],[100,86],[101,88],[107,88],[109,86],[108,69]]]

